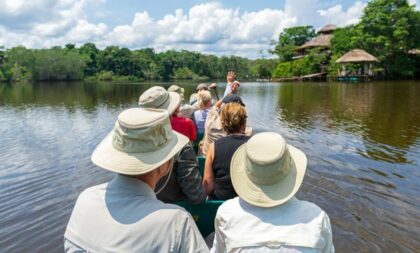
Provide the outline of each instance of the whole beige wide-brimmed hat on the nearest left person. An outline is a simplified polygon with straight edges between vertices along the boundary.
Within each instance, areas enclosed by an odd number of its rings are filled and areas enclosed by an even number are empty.
[[[167,162],[187,143],[187,137],[172,130],[166,110],[132,108],[120,113],[92,162],[116,173],[141,175]]]

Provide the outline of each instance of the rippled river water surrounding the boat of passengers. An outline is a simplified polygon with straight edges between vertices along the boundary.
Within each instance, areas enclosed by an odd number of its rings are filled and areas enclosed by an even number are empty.
[[[0,252],[63,250],[78,194],[112,177],[93,149],[152,85],[0,84]],[[337,252],[420,252],[420,82],[244,82],[240,95],[255,132],[308,156],[297,197],[329,214]]]

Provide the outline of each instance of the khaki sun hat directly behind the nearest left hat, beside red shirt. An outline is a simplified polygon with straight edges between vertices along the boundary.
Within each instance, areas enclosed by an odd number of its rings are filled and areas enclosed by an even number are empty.
[[[161,86],[147,89],[139,98],[141,108],[160,108],[172,115],[181,104],[181,96],[176,92],[168,92]]]

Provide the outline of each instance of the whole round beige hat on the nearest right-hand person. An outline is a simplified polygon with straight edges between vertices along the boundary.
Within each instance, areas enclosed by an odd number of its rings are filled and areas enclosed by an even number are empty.
[[[236,150],[230,176],[236,193],[259,207],[278,206],[292,198],[302,185],[307,159],[277,133],[251,137]]]

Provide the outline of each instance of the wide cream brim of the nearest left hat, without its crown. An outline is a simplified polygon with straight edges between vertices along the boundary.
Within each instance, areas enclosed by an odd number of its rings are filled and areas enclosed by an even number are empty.
[[[172,140],[157,151],[148,153],[125,153],[112,145],[112,132],[96,147],[92,162],[97,166],[124,175],[148,173],[174,157],[187,143],[188,138],[173,131]]]

